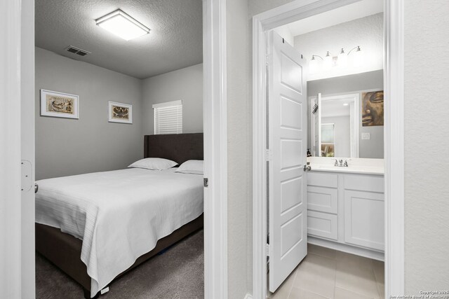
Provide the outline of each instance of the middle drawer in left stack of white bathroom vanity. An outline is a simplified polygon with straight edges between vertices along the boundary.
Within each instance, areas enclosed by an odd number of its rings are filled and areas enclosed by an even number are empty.
[[[307,186],[307,209],[337,214],[336,188]]]

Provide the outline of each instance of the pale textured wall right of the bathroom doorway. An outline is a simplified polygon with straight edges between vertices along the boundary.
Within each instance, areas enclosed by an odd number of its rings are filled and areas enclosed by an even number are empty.
[[[417,295],[449,286],[449,1],[404,9],[406,293]],[[429,49],[437,57],[417,59]]]

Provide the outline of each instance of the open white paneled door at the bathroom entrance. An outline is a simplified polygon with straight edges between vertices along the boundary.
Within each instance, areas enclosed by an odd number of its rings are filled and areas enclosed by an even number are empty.
[[[269,33],[269,291],[307,254],[307,92],[304,60]]]

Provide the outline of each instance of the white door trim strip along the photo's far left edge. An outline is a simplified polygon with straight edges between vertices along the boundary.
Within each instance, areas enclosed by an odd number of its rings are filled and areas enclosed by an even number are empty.
[[[0,2],[0,289],[22,298],[20,153],[20,1]]]

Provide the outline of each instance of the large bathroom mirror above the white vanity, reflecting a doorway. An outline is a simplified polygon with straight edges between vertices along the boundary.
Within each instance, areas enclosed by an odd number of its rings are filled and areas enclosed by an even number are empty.
[[[307,82],[308,155],[384,158],[383,71]]]

